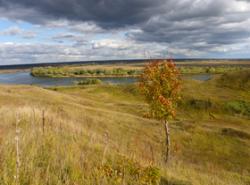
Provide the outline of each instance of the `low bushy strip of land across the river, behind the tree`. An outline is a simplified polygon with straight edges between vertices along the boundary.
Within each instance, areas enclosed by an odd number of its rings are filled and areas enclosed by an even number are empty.
[[[206,62],[197,65],[195,62],[176,63],[181,74],[223,74],[226,72],[241,71],[250,65],[240,66],[233,63],[207,65]],[[117,64],[117,65],[65,65],[34,67],[31,75],[34,77],[138,77],[145,63]]]

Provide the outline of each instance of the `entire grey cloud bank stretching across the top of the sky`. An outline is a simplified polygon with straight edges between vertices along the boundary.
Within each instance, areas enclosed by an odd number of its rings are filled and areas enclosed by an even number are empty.
[[[100,57],[100,52],[109,57],[134,56],[132,51],[137,49],[133,44],[141,51],[157,46],[155,56],[166,49],[181,56],[199,55],[235,48],[232,45],[244,47],[250,38],[249,0],[0,0],[0,16],[65,27],[69,33],[52,40],[70,41],[70,47],[78,50],[86,46],[90,57]],[[127,38],[134,41],[128,47],[131,52],[127,48],[114,50],[113,43],[111,48],[106,47],[110,43],[96,45],[98,52],[89,48],[91,34],[118,29],[128,32]]]

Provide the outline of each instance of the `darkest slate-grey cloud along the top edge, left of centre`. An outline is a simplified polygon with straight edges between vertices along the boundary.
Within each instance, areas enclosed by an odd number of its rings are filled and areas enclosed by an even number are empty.
[[[12,11],[9,13],[12,18],[33,23],[44,23],[48,18],[94,21],[104,28],[146,21],[156,12],[163,11],[165,3],[166,0],[0,0],[2,11]],[[23,11],[13,13],[14,9]]]

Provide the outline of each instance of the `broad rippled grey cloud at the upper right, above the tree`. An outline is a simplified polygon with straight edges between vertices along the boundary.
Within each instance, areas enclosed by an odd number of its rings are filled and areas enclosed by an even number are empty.
[[[228,9],[234,8],[229,7],[233,1],[197,1],[207,2],[205,8],[185,2],[189,4],[185,9],[179,7],[181,13],[170,11],[152,18],[141,26],[141,32],[128,33],[128,36],[143,42],[170,43],[178,48],[204,51],[244,43],[250,38],[250,28],[246,26],[250,24],[250,9],[249,12],[230,12]]]

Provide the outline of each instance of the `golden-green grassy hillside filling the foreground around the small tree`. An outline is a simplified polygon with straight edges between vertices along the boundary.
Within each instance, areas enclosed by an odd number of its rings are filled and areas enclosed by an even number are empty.
[[[136,85],[0,86],[0,184],[250,184],[249,89],[223,78],[183,82],[167,166]]]

